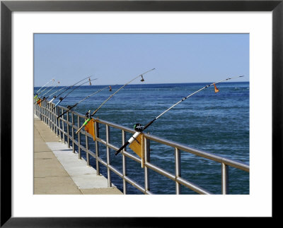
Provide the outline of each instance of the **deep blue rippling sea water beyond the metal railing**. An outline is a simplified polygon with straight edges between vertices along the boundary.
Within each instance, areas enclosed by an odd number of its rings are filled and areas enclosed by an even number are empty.
[[[95,117],[111,121],[115,124],[133,128],[134,124],[146,125],[149,121],[171,107],[183,97],[199,90],[210,83],[176,83],[176,84],[146,84],[127,85],[117,92],[97,112]],[[104,100],[122,85],[112,86],[89,97],[78,104],[76,112],[85,114],[93,112]],[[71,92],[61,106],[75,104],[105,85],[81,86]],[[183,143],[191,148],[212,152],[233,160],[249,164],[249,83],[219,83],[219,92],[210,87],[187,100],[157,119],[146,129],[146,133],[154,136]],[[39,88],[35,88],[37,91]],[[59,88],[58,88],[59,89]],[[50,93],[54,92],[51,91]],[[69,92],[69,90],[68,90]],[[66,92],[67,93],[67,92]],[[63,94],[64,95],[64,94]],[[51,100],[49,98],[48,100]],[[58,99],[57,99],[58,100]],[[56,103],[57,100],[54,100]],[[82,123],[81,123],[82,124]],[[112,128],[111,128],[112,129]],[[105,139],[105,127],[100,128],[100,137]],[[127,135],[129,138],[130,135]],[[83,140],[84,137],[81,137]],[[110,142],[118,148],[121,145],[120,131],[111,131]],[[89,140],[91,150],[95,144]],[[127,151],[131,151],[127,148]],[[122,156],[115,156],[110,150],[110,161],[122,172]],[[83,157],[85,153],[83,152]],[[106,160],[105,147],[100,146],[100,155]],[[175,172],[174,149],[151,141],[151,163]],[[181,176],[208,191],[221,194],[221,164],[196,157],[187,152],[181,152]],[[96,162],[91,158],[91,164],[96,168]],[[107,176],[107,170],[101,164],[100,172]],[[112,182],[122,190],[122,180],[112,173]],[[127,158],[127,175],[141,186],[144,186],[144,169],[140,164]],[[175,194],[175,182],[149,171],[150,191],[155,194]],[[249,194],[249,173],[229,167],[229,193]],[[183,194],[195,194],[182,186]],[[127,193],[142,194],[128,184]]]

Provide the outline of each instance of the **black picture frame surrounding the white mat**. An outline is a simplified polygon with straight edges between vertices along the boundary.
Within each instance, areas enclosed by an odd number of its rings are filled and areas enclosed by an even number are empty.
[[[271,11],[272,12],[272,217],[280,219],[282,193],[283,0],[258,1],[1,1],[1,227],[168,227],[165,217],[12,217],[11,13],[13,11]],[[262,88],[262,95],[264,95]],[[264,197],[264,196],[262,196]],[[193,218],[190,218],[193,219]],[[194,218],[197,220],[197,218]],[[232,218],[231,218],[232,219]],[[183,221],[184,220],[184,221]],[[200,218],[197,220],[201,222]],[[181,224],[178,221],[178,224]],[[262,223],[261,223],[262,224]],[[177,225],[177,224],[176,224]],[[212,225],[212,224],[210,224]],[[228,225],[228,224],[226,224]],[[269,224],[270,225],[270,224]]]

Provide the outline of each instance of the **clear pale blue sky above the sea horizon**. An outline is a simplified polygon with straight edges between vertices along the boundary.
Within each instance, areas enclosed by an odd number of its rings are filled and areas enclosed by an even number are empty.
[[[151,68],[146,83],[249,81],[249,49],[248,34],[35,34],[34,85],[123,85]]]

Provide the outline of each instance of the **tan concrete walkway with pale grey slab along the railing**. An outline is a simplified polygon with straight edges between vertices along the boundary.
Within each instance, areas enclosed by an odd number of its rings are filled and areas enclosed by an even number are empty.
[[[34,116],[34,194],[122,194]]]

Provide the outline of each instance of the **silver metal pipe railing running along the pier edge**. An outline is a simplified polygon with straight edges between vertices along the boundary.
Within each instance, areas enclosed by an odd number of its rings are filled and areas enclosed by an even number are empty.
[[[78,134],[76,134],[76,130],[83,124],[82,121],[86,119],[86,116],[83,116],[77,112],[69,111],[67,114],[64,114],[62,117],[57,119],[57,114],[61,114],[66,111],[67,108],[57,106],[54,108],[54,104],[43,101],[41,105],[35,104],[35,114],[40,117],[42,121],[49,126],[54,133],[57,134],[59,138],[63,140],[63,143],[67,143],[69,148],[72,148],[73,152],[77,152],[79,159],[81,159],[81,152],[86,152],[86,162],[90,165],[90,156],[96,160],[96,172],[97,175],[100,175],[100,164],[107,169],[107,179],[108,179],[108,187],[112,186],[111,176],[112,172],[117,174],[117,176],[122,179],[122,191],[124,194],[127,194],[127,185],[131,184],[139,191],[144,194],[153,194],[150,191],[149,186],[149,170],[153,170],[154,172],[161,174],[162,176],[166,176],[168,179],[175,181],[175,193],[180,194],[181,188],[180,186],[185,186],[186,188],[190,188],[192,191],[200,194],[212,194],[208,190],[198,186],[197,184],[192,183],[191,181],[187,181],[183,179],[181,176],[181,156],[180,153],[188,152],[192,155],[197,155],[198,157],[206,158],[207,160],[211,160],[214,162],[219,162],[221,164],[221,193],[228,194],[229,193],[229,167],[234,167],[236,169],[241,169],[245,172],[249,172],[249,165],[243,162],[238,162],[236,160],[227,159],[225,157],[221,157],[218,155],[214,155],[209,152],[204,152],[202,150],[195,150],[187,147],[186,145],[175,143],[171,140],[166,140],[163,138],[159,138],[147,133],[144,133],[144,161],[141,160],[140,157],[133,155],[132,153],[123,150],[122,153],[122,172],[111,164],[110,162],[110,149],[118,150],[121,145],[125,143],[126,133],[133,134],[135,131],[127,128],[125,126],[120,126],[117,124],[113,124],[109,121],[104,121],[102,119],[96,119],[94,122],[94,128],[96,133],[96,140],[94,141],[94,150],[91,150],[89,138],[92,138],[89,133],[81,130]],[[100,125],[105,126],[105,139],[100,137]],[[113,145],[110,143],[110,128],[113,130],[119,130],[122,132],[122,140],[120,140],[120,145]],[[116,134],[116,133],[115,133]],[[82,143],[82,136],[84,136],[84,140]],[[168,145],[175,152],[175,173],[168,172],[165,169],[158,167],[156,164],[151,163],[150,159],[150,150],[151,150],[151,141],[156,143],[161,143],[162,145]],[[100,145],[105,147],[105,152],[100,153]],[[78,148],[75,151],[75,147]],[[106,153],[105,159],[103,159],[103,154]],[[144,184],[138,184],[137,181],[134,181],[127,175],[127,162],[126,158],[133,160],[134,162],[143,163],[144,165]]]

